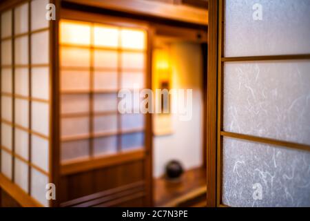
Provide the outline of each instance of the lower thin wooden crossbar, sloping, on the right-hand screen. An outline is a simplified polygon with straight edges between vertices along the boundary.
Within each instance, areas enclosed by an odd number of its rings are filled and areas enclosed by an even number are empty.
[[[252,135],[244,135],[244,134],[239,134],[239,133],[230,133],[230,132],[225,132],[225,131],[221,131],[220,135],[224,137],[231,137],[231,138],[247,140],[247,141],[252,141],[252,142],[260,142],[262,144],[271,144],[271,145],[276,145],[276,146],[295,148],[295,149],[299,149],[302,151],[310,151],[310,146],[306,144],[297,144],[293,142],[274,140],[274,139],[265,138],[265,137],[256,137]]]

